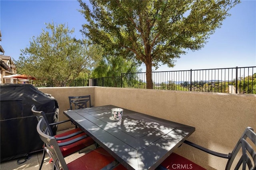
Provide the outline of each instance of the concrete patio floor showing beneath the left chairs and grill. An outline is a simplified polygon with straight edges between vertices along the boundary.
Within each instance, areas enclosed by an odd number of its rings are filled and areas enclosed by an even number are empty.
[[[66,131],[66,130],[59,131],[57,133],[62,133],[64,131]],[[95,149],[95,145],[89,146],[88,148],[84,148],[83,150],[81,150],[82,153],[76,152],[70,156],[67,156],[64,159],[65,159],[66,163],[68,164],[69,162],[76,160],[77,158],[83,156],[84,154],[90,152],[93,149]],[[20,158],[1,162],[0,170],[38,170],[40,167],[42,156],[43,156],[43,151],[29,154],[30,159],[28,159],[26,162],[24,162],[22,164],[17,164],[17,160]],[[45,158],[44,158],[44,164],[42,166],[42,170],[52,170],[53,169],[53,163],[52,162],[49,163],[49,161],[50,161],[50,157],[46,153]]]

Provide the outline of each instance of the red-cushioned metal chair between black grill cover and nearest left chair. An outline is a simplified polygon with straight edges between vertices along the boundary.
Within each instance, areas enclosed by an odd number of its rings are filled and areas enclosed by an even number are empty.
[[[58,145],[60,146],[60,151],[64,157],[78,152],[92,144],[95,144],[95,141],[80,128],[75,128],[61,134],[54,135],[51,126],[65,123],[70,120],[49,124],[45,113],[43,111],[36,111],[35,105],[32,105],[31,111],[36,116],[38,122],[41,118],[45,120],[45,125],[48,129],[48,135],[53,136],[56,139]],[[42,164],[44,162],[45,150],[46,148],[44,146],[43,158],[39,170],[42,168]]]

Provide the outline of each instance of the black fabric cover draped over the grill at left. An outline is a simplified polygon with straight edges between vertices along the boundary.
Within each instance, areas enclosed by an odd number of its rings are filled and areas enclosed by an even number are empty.
[[[44,111],[49,123],[58,122],[59,107],[53,97],[30,84],[0,84],[1,162],[42,150],[31,105]]]

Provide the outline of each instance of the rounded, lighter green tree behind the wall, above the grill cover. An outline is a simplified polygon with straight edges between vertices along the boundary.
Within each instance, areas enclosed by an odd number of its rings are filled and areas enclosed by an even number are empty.
[[[101,58],[93,46],[71,37],[74,29],[53,23],[46,28],[32,37],[30,46],[21,50],[16,61],[18,72],[36,77],[36,83],[64,87]]]

